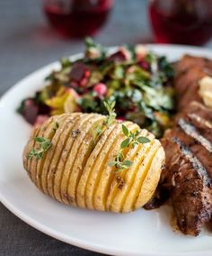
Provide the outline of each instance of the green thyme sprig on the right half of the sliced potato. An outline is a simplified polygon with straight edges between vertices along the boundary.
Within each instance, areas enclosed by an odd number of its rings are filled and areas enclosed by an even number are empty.
[[[137,130],[135,133],[128,131],[128,127],[124,124],[122,124],[122,133],[127,137],[123,142],[120,143],[120,148],[118,151],[117,156],[115,157],[115,160],[111,160],[108,164],[110,167],[115,166],[116,171],[119,171],[121,169],[128,169],[133,165],[133,161],[131,160],[125,160],[123,150],[125,148],[128,148],[130,145],[132,148],[134,148],[137,144],[145,144],[150,142],[150,140],[147,137],[139,136],[140,131]]]

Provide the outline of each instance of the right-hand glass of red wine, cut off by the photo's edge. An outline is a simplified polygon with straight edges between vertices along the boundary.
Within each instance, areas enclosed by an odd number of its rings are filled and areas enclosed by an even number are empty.
[[[159,43],[202,45],[212,36],[212,0],[152,0],[149,17]]]

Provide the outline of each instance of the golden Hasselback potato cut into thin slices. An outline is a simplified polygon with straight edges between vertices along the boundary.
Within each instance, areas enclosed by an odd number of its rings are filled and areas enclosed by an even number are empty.
[[[23,167],[32,182],[57,201],[71,206],[128,213],[144,206],[157,187],[164,162],[161,143],[152,133],[140,130],[136,123],[124,122],[131,132],[139,131],[150,142],[129,146],[128,169],[116,172],[108,162],[114,160],[120,143],[126,139],[120,122],[107,127],[102,114],[61,114],[50,117],[34,128],[23,151]],[[54,123],[58,124],[55,131]],[[97,126],[102,133],[93,137]],[[76,133],[77,132],[77,133]],[[51,141],[51,147],[37,160],[29,159],[32,148],[38,149],[34,137]]]

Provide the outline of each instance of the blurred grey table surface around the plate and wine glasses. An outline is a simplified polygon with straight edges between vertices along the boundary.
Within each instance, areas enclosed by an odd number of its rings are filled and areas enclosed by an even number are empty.
[[[111,46],[151,42],[146,0],[116,0],[96,40]],[[38,0],[0,0],[0,96],[35,69],[84,49],[83,41],[52,32]],[[212,43],[208,43],[212,47]],[[0,255],[101,255],[40,233],[0,204]]]

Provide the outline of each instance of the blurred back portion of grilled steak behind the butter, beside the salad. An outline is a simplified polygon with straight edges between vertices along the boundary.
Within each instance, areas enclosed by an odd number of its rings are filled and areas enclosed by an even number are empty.
[[[185,55],[175,66],[178,110],[184,109],[191,101],[201,102],[199,80],[212,74],[212,60]]]

